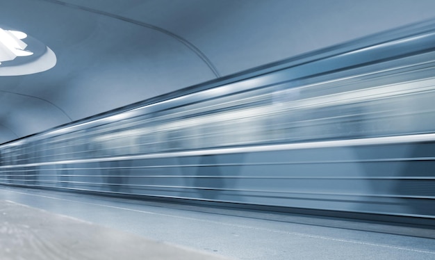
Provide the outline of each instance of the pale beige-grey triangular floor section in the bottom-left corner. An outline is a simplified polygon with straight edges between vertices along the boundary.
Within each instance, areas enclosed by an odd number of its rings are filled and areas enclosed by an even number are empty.
[[[210,259],[108,227],[0,200],[0,259]]]

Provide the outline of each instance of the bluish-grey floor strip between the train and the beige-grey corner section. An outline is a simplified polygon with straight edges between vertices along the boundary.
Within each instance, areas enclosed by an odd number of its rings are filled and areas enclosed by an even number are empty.
[[[435,260],[434,239],[386,234],[385,226],[376,231],[376,225],[364,222],[343,221],[328,227],[313,217],[283,220],[265,213],[271,217],[264,219],[249,211],[204,211],[181,204],[10,186],[0,186],[0,200],[229,259]]]

